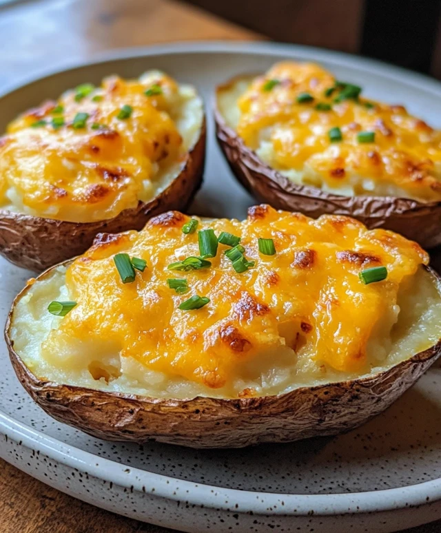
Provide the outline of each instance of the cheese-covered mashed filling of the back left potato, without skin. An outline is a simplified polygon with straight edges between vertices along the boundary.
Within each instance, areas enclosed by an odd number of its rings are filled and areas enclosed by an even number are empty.
[[[113,218],[170,184],[202,123],[196,90],[162,72],[79,85],[19,116],[0,138],[0,209]]]

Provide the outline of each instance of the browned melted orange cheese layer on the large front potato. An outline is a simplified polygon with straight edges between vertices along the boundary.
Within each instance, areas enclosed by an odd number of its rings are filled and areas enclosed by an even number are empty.
[[[77,305],[60,320],[42,350],[60,353],[78,343],[105,353],[134,357],[152,370],[184,377],[209,388],[228,386],[235,375],[262,365],[281,346],[307,350],[331,368],[362,372],[369,366],[367,343],[382,323],[404,278],[427,264],[415,242],[391,231],[368,231],[356,220],[249,209],[247,220],[199,220],[183,233],[189,217],[170,211],[152,218],[143,231],[101,235],[66,273],[69,299]],[[209,268],[172,271],[167,267],[198,256],[198,231],[227,231],[240,237],[254,266],[238,273],[219,244]],[[258,238],[274,240],[275,255],[263,255]],[[123,283],[117,253],[147,262],[134,282]],[[361,270],[387,267],[387,279],[363,284]],[[176,293],[171,278],[187,280]],[[183,311],[194,295],[207,297],[201,309]],[[93,348],[90,348],[93,349]],[[240,370],[240,372],[239,372]]]

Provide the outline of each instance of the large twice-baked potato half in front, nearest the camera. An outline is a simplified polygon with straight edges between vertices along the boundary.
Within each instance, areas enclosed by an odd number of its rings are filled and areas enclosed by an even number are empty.
[[[428,261],[342,216],[171,211],[30,280],[6,341],[32,398],[95,437],[234,448],[334,435],[440,355]]]

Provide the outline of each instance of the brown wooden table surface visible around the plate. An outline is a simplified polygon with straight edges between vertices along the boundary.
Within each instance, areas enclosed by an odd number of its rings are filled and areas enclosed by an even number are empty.
[[[165,41],[263,39],[171,0],[32,0],[0,8],[0,86],[66,59]],[[0,460],[2,533],[165,533],[67,496]],[[439,533],[441,521],[408,533]],[[354,532],[357,533],[357,532]]]

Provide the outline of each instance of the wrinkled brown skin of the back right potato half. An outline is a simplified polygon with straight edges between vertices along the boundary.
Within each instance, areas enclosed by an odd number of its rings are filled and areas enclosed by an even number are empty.
[[[218,109],[218,93],[227,90],[236,81],[238,78],[216,88],[216,137],[233,174],[259,202],[269,203],[284,211],[300,211],[311,218],[324,213],[351,216],[369,229],[391,229],[415,240],[426,249],[441,244],[441,202],[424,203],[393,196],[328,194],[317,187],[296,185],[269,167],[252,149],[245,146],[242,138],[225,123]]]

